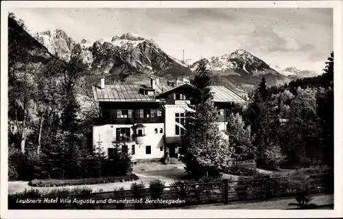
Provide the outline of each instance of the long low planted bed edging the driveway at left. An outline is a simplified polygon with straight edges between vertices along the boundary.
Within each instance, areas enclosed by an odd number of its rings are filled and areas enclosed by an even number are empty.
[[[29,181],[29,185],[36,187],[55,187],[55,186],[67,186],[67,185],[91,185],[100,183],[121,183],[128,181],[136,181],[139,176],[130,174],[127,176],[107,176],[99,178],[80,178],[80,179],[34,179]]]

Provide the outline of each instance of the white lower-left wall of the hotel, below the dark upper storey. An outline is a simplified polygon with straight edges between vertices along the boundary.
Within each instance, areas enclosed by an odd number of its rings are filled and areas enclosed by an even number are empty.
[[[144,132],[145,136],[141,144],[137,144],[134,139],[132,141],[126,141],[128,146],[128,152],[132,156],[132,160],[135,159],[160,159],[164,156],[165,143],[163,135],[165,134],[165,124],[163,123],[151,123],[144,124],[146,127]],[[132,135],[132,124],[116,124],[116,125],[102,125],[93,126],[93,145],[97,146],[101,144],[106,156],[108,155],[108,148],[113,148],[112,141],[116,141],[116,128],[130,128]],[[156,130],[155,130],[156,129]],[[157,131],[157,133],[156,133]],[[161,133],[162,132],[162,133]],[[132,146],[134,146],[134,154],[132,154]],[[146,147],[150,146],[150,154],[146,153]]]

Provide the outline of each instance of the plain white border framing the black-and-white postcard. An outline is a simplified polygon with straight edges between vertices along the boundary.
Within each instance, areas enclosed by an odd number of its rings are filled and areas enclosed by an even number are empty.
[[[7,45],[9,8],[333,8],[335,53],[335,209],[283,210],[7,210]],[[332,218],[342,217],[342,1],[1,1],[1,218]],[[309,36],[311,37],[311,36]],[[329,56],[329,54],[328,54]],[[324,65],[324,63],[323,63]],[[324,67],[324,66],[323,66]]]

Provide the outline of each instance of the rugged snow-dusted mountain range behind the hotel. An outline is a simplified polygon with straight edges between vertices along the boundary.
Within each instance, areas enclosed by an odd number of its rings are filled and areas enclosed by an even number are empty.
[[[178,60],[169,56],[152,39],[132,33],[97,40],[84,38],[80,42],[74,41],[63,30],[38,32],[32,36],[62,60],[79,54],[88,65],[88,71],[96,70],[120,78],[142,73],[168,80],[191,77],[201,61]],[[276,65],[268,65],[243,49],[223,56],[203,58],[202,61],[206,62],[215,84],[224,83],[231,88],[251,88],[262,76],[265,76],[268,84],[276,85],[318,75],[315,71],[300,71],[296,67],[281,69]]]

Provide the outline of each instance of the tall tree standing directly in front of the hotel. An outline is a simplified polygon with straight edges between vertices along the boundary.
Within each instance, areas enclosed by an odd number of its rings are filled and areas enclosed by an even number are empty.
[[[218,130],[217,110],[212,102],[210,77],[204,62],[191,81],[194,91],[187,110],[185,135],[180,153],[186,171],[193,176],[217,175],[226,168],[233,149],[224,133]]]

